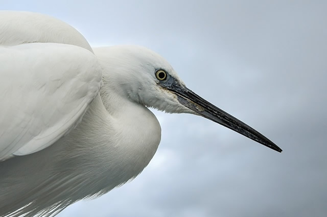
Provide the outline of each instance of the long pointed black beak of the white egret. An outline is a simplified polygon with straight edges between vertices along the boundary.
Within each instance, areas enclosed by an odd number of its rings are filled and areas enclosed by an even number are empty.
[[[181,104],[190,108],[200,116],[219,123],[275,151],[283,151],[260,132],[206,101],[185,86],[178,84],[176,80],[165,85],[162,84],[161,86],[176,93],[177,99]]]

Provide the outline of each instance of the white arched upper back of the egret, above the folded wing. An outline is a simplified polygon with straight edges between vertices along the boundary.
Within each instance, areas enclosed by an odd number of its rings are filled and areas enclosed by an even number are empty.
[[[72,44],[92,51],[82,34],[59,19],[27,11],[0,11],[0,45],[34,42]]]

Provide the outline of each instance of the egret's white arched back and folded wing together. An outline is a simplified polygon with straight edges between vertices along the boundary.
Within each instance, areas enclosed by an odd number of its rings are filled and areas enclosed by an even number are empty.
[[[102,83],[92,52],[58,19],[0,11],[0,160],[46,148],[76,126]]]

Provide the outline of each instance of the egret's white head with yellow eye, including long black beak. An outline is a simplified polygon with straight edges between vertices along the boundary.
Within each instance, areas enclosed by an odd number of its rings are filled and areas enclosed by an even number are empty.
[[[206,101],[185,86],[173,67],[142,46],[96,48],[104,69],[104,87],[125,98],[168,113],[202,116],[275,151],[282,149],[252,127]],[[106,85],[108,83],[108,85]]]

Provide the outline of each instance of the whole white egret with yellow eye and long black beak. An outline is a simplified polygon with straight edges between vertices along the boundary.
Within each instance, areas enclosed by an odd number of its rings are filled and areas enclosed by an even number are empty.
[[[136,177],[161,137],[147,107],[200,115],[282,151],[147,48],[92,49],[60,20],[3,11],[0,50],[0,216],[55,215]]]

